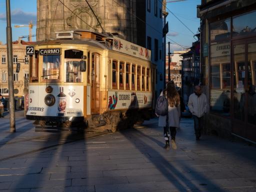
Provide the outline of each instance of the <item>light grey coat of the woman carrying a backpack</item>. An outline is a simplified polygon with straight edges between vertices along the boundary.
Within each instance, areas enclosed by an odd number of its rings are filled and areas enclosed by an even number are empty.
[[[162,92],[161,94],[162,95]],[[168,106],[168,122],[169,126],[179,127],[179,117],[180,117],[180,104],[177,107]],[[166,115],[159,115],[158,126],[166,125]]]

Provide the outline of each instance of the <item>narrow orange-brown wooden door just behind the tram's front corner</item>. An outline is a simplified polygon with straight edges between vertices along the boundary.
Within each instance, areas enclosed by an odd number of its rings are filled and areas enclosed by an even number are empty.
[[[100,56],[97,53],[92,53],[91,57],[91,114],[99,114],[100,107],[100,92],[99,92],[99,65]]]

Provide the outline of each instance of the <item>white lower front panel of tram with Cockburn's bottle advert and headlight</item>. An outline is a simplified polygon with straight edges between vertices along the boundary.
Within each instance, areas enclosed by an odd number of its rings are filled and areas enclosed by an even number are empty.
[[[52,85],[52,92],[45,85],[28,88],[27,115],[83,116],[83,86]]]

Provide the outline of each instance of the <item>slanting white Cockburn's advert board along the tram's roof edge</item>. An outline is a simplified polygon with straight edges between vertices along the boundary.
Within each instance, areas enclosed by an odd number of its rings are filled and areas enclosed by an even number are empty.
[[[113,50],[136,56],[145,60],[151,60],[151,51],[147,48],[139,46],[137,44],[131,43],[129,41],[123,40],[118,37],[113,38]]]

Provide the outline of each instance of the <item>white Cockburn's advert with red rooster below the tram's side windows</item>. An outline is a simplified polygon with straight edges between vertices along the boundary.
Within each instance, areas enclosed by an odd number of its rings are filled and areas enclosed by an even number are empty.
[[[108,91],[108,109],[146,108],[151,107],[152,93]]]

